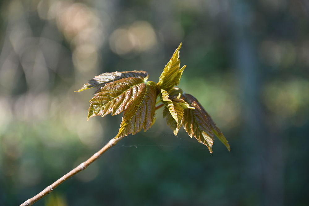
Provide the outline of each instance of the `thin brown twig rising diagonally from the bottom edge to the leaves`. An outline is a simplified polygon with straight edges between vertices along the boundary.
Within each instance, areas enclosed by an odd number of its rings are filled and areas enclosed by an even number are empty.
[[[56,182],[54,182],[53,184],[49,185],[48,187],[46,187],[43,191],[41,191],[39,194],[37,194],[36,196],[32,197],[31,199],[27,200],[26,202],[24,202],[23,204],[21,204],[20,206],[28,206],[28,205],[32,205],[33,203],[35,203],[36,201],[40,200],[42,197],[44,197],[45,195],[51,193],[53,191],[53,189],[55,189],[58,185],[60,185],[61,183],[63,183],[64,181],[66,181],[67,179],[69,179],[70,177],[74,176],[75,174],[77,174],[78,172],[86,169],[92,162],[94,162],[95,160],[97,160],[104,152],[106,152],[109,148],[111,148],[112,146],[116,145],[118,141],[120,141],[123,137],[118,137],[118,138],[112,138],[102,149],[100,149],[97,153],[95,153],[94,155],[92,155],[91,158],[89,158],[86,162],[83,162],[82,164],[78,165],[75,169],[71,170],[69,173],[67,173],[66,175],[64,175],[63,177],[61,177],[60,179],[58,179]]]

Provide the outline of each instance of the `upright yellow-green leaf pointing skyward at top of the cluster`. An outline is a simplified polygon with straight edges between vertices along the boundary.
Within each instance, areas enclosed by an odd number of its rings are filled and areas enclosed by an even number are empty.
[[[179,47],[174,52],[171,60],[164,67],[163,72],[159,78],[159,82],[157,83],[161,89],[169,92],[173,89],[174,86],[177,86],[180,82],[181,75],[186,68],[187,65],[184,65],[180,68],[180,60],[179,60],[179,49],[181,47],[181,43]]]

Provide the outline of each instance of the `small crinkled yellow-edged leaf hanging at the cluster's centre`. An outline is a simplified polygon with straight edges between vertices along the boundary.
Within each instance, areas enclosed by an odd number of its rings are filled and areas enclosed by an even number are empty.
[[[177,135],[179,128],[184,120],[184,109],[177,102],[173,102],[169,99],[166,90],[161,89],[161,101],[164,104],[163,117],[166,117],[167,125]]]

